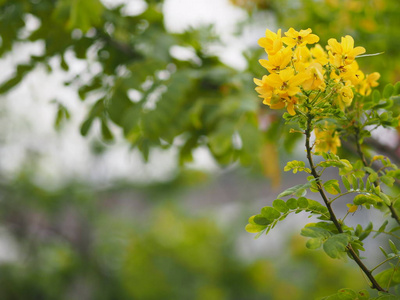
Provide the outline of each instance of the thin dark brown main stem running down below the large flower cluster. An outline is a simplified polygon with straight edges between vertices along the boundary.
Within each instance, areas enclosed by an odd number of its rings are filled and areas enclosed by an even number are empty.
[[[338,219],[336,218],[335,213],[333,212],[331,203],[329,202],[328,197],[326,196],[325,191],[322,188],[320,176],[318,175],[318,173],[317,173],[317,171],[315,169],[314,161],[313,161],[312,154],[311,154],[311,146],[310,146],[310,136],[311,136],[311,130],[312,130],[311,123],[312,123],[312,121],[313,121],[313,115],[308,113],[307,114],[307,127],[306,127],[306,130],[305,130],[305,135],[306,135],[306,144],[305,144],[305,146],[306,146],[306,151],[307,151],[307,159],[308,159],[308,162],[310,164],[311,174],[313,175],[313,177],[316,180],[318,191],[319,191],[322,199],[324,200],[326,208],[329,211],[329,215],[330,215],[331,221],[335,225],[335,227],[338,230],[338,232],[339,233],[343,233],[342,225],[339,223]],[[350,254],[350,256],[353,258],[353,260],[357,263],[357,265],[361,268],[361,270],[364,272],[364,274],[371,281],[372,288],[374,288],[374,289],[376,289],[378,291],[381,291],[381,292],[387,292],[385,289],[383,289],[379,285],[379,283],[376,281],[375,277],[372,275],[371,271],[364,265],[364,263],[358,257],[357,253],[354,251],[354,249],[352,248],[351,244],[348,244],[346,248],[347,248],[347,251]]]

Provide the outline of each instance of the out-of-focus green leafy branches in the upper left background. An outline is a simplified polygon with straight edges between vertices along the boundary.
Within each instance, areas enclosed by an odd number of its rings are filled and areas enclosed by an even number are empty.
[[[45,49],[18,65],[0,84],[0,94],[18,86],[37,66],[52,72],[53,58],[68,70],[74,62],[65,59],[67,53],[84,60],[94,51],[90,63],[101,71],[83,72],[66,82],[82,101],[91,99],[82,135],[99,122],[102,139],[110,143],[117,125],[146,160],[152,149],[174,147],[183,164],[193,159],[193,150],[206,147],[221,164],[240,161],[261,170],[265,139],[258,126],[257,99],[249,97],[251,75],[209,54],[209,46],[218,43],[212,28],[168,32],[161,3],[147,1],[142,13],[129,16],[123,6],[107,9],[100,0],[3,1],[0,17],[7,26],[0,26],[0,55],[20,41],[18,32],[28,16],[39,27],[25,40],[41,41]],[[174,47],[192,51],[193,58],[176,56]],[[66,110],[60,108],[56,126],[66,119]]]

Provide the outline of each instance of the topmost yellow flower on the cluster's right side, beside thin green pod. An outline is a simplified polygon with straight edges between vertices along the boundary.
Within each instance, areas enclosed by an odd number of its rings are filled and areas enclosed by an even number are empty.
[[[341,43],[336,39],[329,39],[326,49],[332,54],[331,62],[337,68],[351,64],[357,55],[365,53],[364,47],[354,48],[354,39],[350,35],[342,37]]]

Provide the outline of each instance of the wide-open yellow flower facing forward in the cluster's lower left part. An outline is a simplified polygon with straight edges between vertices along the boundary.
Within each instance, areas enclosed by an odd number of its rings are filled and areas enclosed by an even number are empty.
[[[289,96],[294,96],[300,92],[300,85],[307,80],[309,75],[305,72],[299,72],[294,74],[292,68],[286,68],[282,70],[279,74],[270,74],[265,82],[272,86],[277,94],[288,94]]]

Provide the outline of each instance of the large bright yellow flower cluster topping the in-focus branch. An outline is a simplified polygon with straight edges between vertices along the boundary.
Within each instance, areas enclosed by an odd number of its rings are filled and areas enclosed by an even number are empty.
[[[359,69],[355,58],[365,53],[363,47],[354,47],[354,40],[347,35],[339,43],[330,39],[326,51],[316,44],[319,37],[312,30],[296,31],[290,28],[282,36],[267,29],[265,37],[258,44],[268,54],[268,60],[261,59],[260,64],[268,70],[269,75],[254,79],[256,91],[263,103],[272,109],[287,109],[290,115],[296,114],[296,106],[305,95],[312,97],[315,93],[324,92],[329,85],[329,97],[340,109],[349,106],[354,91],[369,95],[371,88],[378,85],[379,73],[365,76]],[[316,44],[312,48],[307,45]]]

